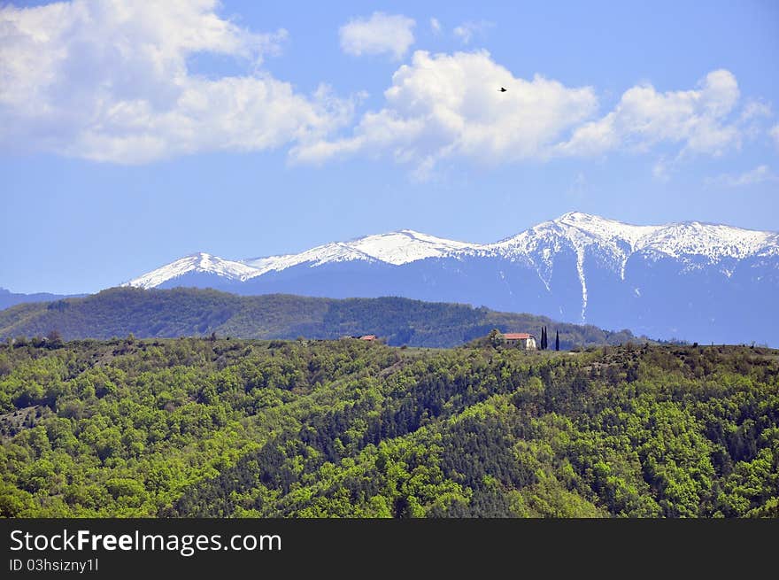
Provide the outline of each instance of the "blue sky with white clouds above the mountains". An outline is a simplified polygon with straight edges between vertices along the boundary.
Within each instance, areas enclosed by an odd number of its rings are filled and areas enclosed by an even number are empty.
[[[570,211],[779,230],[777,61],[773,0],[0,1],[0,287]]]

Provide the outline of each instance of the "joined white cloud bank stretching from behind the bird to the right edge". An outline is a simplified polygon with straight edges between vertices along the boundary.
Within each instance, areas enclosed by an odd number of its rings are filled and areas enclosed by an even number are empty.
[[[485,50],[418,50],[411,64],[397,69],[384,97],[383,108],[365,112],[351,135],[301,143],[290,151],[292,158],[322,163],[358,153],[383,155],[428,174],[453,158],[495,165],[659,149],[653,174],[667,180],[685,156],[738,149],[750,123],[770,114],[756,102],[739,111],[736,77],[718,70],[694,89],[661,93],[637,85],[611,112],[597,116],[595,89],[537,74],[515,77]]]

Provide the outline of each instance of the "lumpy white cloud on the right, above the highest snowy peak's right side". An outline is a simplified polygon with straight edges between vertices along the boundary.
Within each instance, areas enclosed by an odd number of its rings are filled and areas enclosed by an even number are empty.
[[[659,93],[639,85],[625,91],[612,112],[576,128],[558,151],[588,156],[665,142],[681,145],[682,153],[721,155],[741,144],[742,131],[729,121],[738,97],[736,77],[726,70],[708,73],[693,90]]]

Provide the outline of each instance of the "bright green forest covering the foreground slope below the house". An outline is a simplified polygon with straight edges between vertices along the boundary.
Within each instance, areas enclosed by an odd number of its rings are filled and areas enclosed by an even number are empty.
[[[6,517],[776,517],[779,352],[8,341]]]

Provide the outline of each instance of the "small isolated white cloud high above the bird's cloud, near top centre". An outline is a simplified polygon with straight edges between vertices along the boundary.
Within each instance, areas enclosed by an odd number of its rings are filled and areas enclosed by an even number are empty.
[[[339,28],[341,49],[354,56],[389,53],[399,60],[414,43],[413,19],[374,12],[370,18],[351,19]]]

